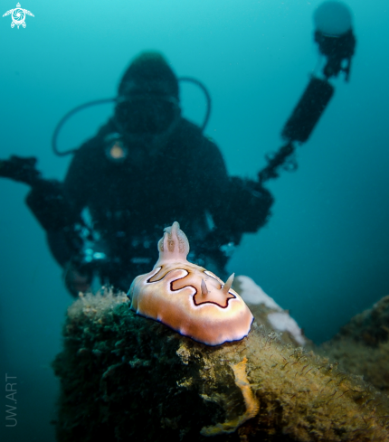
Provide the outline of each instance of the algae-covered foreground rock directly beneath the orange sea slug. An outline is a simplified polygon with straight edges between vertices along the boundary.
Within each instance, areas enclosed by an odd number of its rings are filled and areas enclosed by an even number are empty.
[[[389,440],[386,396],[258,320],[211,347],[128,304],[106,291],[69,308],[58,441]]]

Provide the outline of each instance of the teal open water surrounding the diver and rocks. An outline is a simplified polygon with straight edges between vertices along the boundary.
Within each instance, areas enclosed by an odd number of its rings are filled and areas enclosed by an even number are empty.
[[[1,0],[1,15],[15,3]],[[213,99],[206,134],[230,174],[254,178],[265,154],[281,146],[281,129],[318,66],[312,15],[320,4],[23,0],[34,14],[25,29],[0,17],[0,158],[37,156],[45,177],[62,179],[71,157],[52,154],[56,123],[83,102],[114,97],[129,61],[154,49],[178,76],[204,82]],[[357,40],[350,81],[332,81],[335,96],[298,148],[299,169],[267,183],[276,199],[269,223],[245,235],[229,263],[290,309],[315,343],[389,294],[389,6],[346,5]],[[185,117],[200,123],[201,92],[185,84],[182,100]],[[79,146],[111,110],[90,108],[72,118],[60,149]],[[1,375],[17,382],[17,426],[5,428],[1,417],[0,435],[49,442],[58,391],[51,362],[72,299],[24,204],[27,192],[0,179]]]

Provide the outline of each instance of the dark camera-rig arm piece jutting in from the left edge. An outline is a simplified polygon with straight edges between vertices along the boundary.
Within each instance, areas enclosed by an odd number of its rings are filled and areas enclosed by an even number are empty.
[[[34,156],[12,155],[9,160],[0,160],[0,176],[33,185],[41,179],[41,173],[35,168],[36,162]]]

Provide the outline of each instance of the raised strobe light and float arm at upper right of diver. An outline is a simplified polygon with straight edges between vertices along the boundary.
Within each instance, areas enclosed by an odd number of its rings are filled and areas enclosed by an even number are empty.
[[[293,159],[294,143],[305,143],[334,95],[334,87],[328,81],[345,73],[348,81],[351,58],[356,47],[352,29],[352,16],[348,7],[337,1],[328,1],[318,6],[314,14],[315,42],[319,52],[326,58],[322,77],[311,76],[296,108],[282,129],[281,136],[287,144],[276,153],[267,155],[268,165],[259,173],[260,183],[279,176],[278,168],[297,169]]]

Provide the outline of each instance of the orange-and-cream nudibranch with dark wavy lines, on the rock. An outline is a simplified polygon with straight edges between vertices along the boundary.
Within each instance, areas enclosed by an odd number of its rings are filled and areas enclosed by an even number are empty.
[[[178,222],[166,227],[158,250],[153,270],[129,287],[132,310],[207,345],[239,341],[249,334],[253,316],[231,288],[233,275],[224,284],[188,262],[189,241]]]

